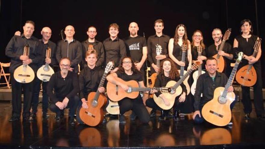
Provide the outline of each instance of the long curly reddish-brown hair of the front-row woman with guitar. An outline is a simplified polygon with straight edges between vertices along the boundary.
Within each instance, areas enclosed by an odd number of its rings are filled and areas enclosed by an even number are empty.
[[[178,78],[179,77],[179,72],[178,72],[177,66],[176,66],[175,62],[173,62],[170,58],[166,58],[160,63],[159,73],[162,74],[162,77],[165,77],[164,70],[163,70],[163,64],[164,64],[165,61],[169,61],[170,64],[171,64],[171,69],[170,69],[170,72],[169,72],[169,78],[170,79]]]

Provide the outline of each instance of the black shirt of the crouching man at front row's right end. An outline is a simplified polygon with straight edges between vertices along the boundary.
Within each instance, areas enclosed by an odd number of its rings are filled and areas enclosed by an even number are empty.
[[[214,98],[215,88],[225,87],[227,80],[226,75],[224,73],[219,73],[218,71],[216,71],[214,80],[208,72],[201,74],[197,80],[194,94],[194,110],[201,110],[204,104]]]

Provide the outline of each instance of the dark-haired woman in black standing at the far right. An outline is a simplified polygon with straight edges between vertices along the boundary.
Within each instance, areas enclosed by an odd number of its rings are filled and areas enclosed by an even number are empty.
[[[240,22],[241,35],[234,39],[234,53],[242,51],[244,53],[242,63],[239,64],[238,70],[248,64],[253,64],[253,67],[257,73],[257,82],[253,86],[254,88],[254,107],[257,114],[257,118],[265,119],[265,112],[263,106],[262,97],[262,78],[261,78],[261,46],[258,49],[257,56],[253,57],[254,44],[258,39],[258,36],[253,35],[253,27],[250,20],[245,19]],[[252,104],[250,100],[250,87],[242,86],[242,102],[244,105],[245,118],[250,118],[252,111]]]

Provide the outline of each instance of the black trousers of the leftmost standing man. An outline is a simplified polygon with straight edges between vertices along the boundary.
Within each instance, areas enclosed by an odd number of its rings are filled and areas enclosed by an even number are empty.
[[[12,116],[20,117],[21,113],[21,95],[23,93],[23,117],[30,116],[30,104],[32,100],[33,82],[19,83],[14,79],[14,73],[11,76],[12,89]],[[22,92],[23,89],[23,92]]]

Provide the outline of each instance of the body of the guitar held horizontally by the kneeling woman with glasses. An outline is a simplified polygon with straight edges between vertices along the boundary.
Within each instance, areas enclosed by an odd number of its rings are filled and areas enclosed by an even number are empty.
[[[119,82],[123,82],[123,84],[128,85],[129,87],[139,87],[138,82],[134,80],[123,81],[123,79],[116,78]],[[126,92],[118,85],[115,85],[111,82],[107,83],[107,95],[112,101],[120,101],[125,97],[135,99],[138,97],[139,92]]]

